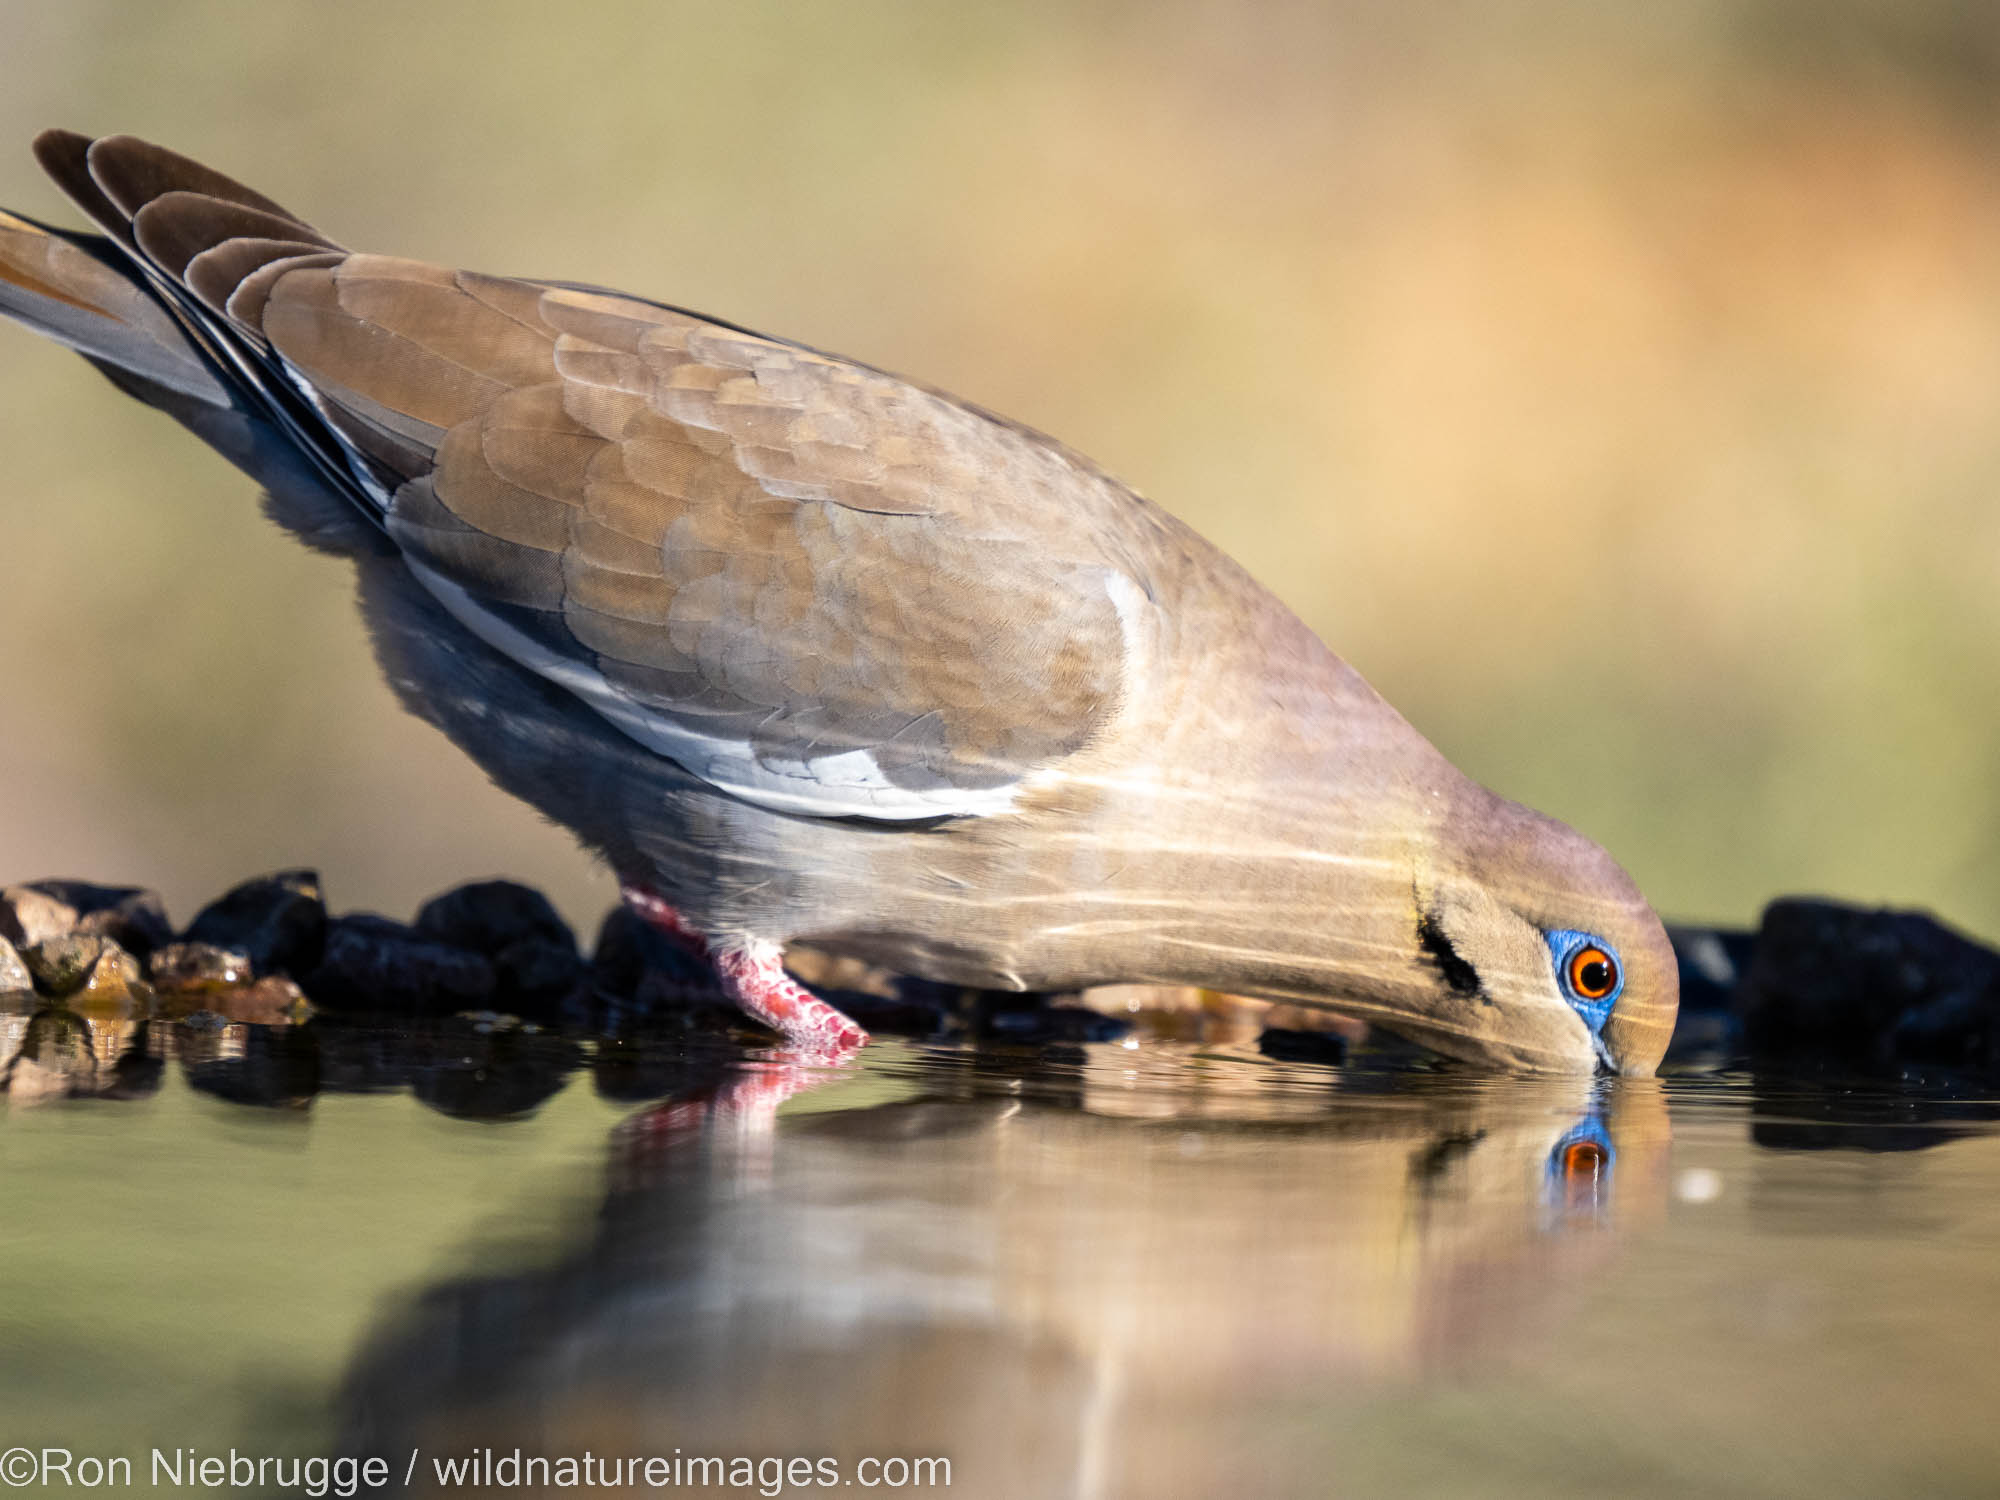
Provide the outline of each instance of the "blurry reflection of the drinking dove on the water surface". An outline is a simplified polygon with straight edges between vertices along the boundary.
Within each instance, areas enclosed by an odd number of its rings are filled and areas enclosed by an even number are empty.
[[[1594,1106],[1584,1080],[1414,1078],[1304,1110],[1296,1084],[1194,1096],[1182,1070],[1116,1118],[1094,1110],[1120,1054],[1096,1060],[1080,1108],[994,1078],[772,1122],[800,1078],[762,1066],[634,1116],[596,1238],[384,1324],[342,1444],[848,1474],[944,1454],[960,1494],[1320,1496],[1300,1414],[1518,1352],[1664,1198],[1648,1082]],[[1586,1122],[1614,1176],[1596,1212],[1552,1214]]]

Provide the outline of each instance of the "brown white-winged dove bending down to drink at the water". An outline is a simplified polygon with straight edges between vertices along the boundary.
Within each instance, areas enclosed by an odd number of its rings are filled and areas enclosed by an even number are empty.
[[[0,312],[352,554],[406,706],[792,1040],[866,1040],[802,940],[1658,1064],[1674,954],[1624,870],[1080,454],[660,302],[344,250],[130,136],[36,154],[104,234],[0,214]]]

